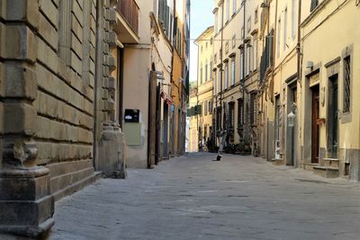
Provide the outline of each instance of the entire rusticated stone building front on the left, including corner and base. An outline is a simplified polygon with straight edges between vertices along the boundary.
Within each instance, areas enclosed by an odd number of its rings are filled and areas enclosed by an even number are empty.
[[[124,173],[112,35],[109,0],[0,0],[0,232],[39,236],[94,166]]]

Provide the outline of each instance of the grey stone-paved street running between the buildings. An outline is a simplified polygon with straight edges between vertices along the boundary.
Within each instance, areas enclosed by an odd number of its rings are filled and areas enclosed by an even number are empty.
[[[49,239],[359,239],[360,185],[252,156],[190,154],[56,203]]]

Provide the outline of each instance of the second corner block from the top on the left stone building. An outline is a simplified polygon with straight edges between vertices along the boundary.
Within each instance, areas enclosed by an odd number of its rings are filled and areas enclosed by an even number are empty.
[[[34,33],[26,25],[9,25],[4,27],[2,58],[36,61],[37,39]]]

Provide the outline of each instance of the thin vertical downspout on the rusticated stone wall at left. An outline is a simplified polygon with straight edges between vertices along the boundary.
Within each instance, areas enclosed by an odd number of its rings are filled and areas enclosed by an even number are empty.
[[[101,75],[101,68],[99,67],[100,63],[102,63],[102,59],[100,58],[103,53],[103,44],[100,44],[102,42],[102,23],[103,22],[103,1],[102,0],[96,0],[96,51],[95,51],[95,81],[94,81],[94,137],[93,137],[93,152],[94,152],[94,158],[93,158],[93,166],[94,169],[97,169],[96,161],[98,159],[98,146],[97,146],[97,138],[99,137],[100,133],[100,124],[98,120],[98,109],[99,109],[99,81],[102,79]],[[100,62],[100,63],[99,63]]]

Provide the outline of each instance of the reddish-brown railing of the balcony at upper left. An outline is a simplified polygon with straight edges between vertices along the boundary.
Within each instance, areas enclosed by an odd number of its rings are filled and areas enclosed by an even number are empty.
[[[130,28],[139,34],[139,5],[135,0],[121,0],[117,7],[119,13],[129,23]]]

